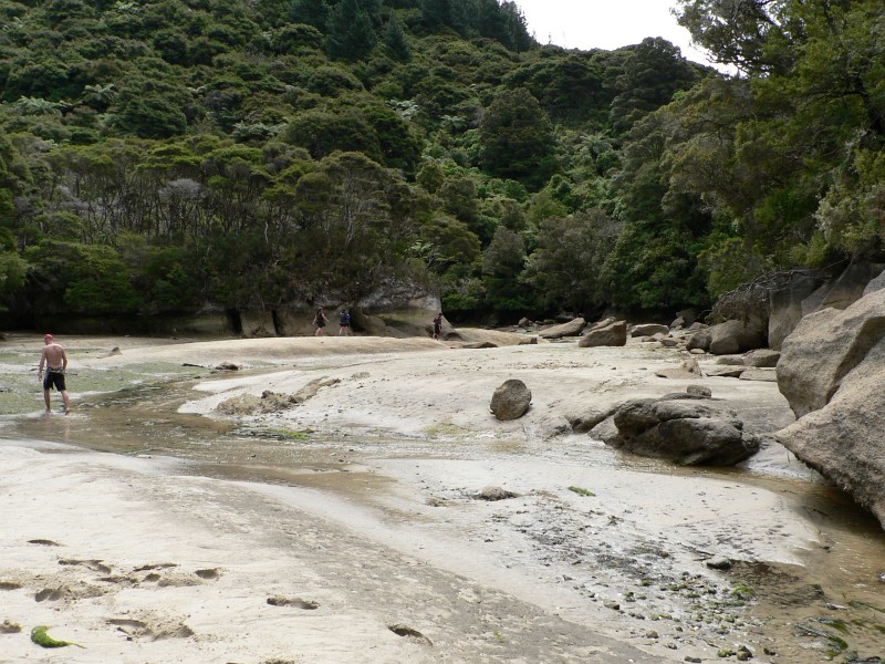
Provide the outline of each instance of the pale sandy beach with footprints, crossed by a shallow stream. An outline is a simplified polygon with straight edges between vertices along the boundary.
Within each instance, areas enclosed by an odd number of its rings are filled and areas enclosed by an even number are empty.
[[[17,515],[0,621],[22,627],[0,633],[0,662],[681,662],[740,645],[813,662],[830,635],[881,654],[885,538],[785,450],[680,469],[566,430],[582,408],[684,390],[654,377],[671,351],[71,342],[72,390],[142,378],[0,428]],[[98,357],[111,344],[123,353]],[[244,371],[179,369],[222,361]],[[508,377],[534,398],[499,423],[488,402]],[[316,378],[329,386],[285,412],[215,411]],[[702,384],[760,433],[791,419],[773,383]],[[514,497],[477,499],[489,485]],[[720,557],[731,570],[707,567]],[[88,650],[42,651],[35,624]]]

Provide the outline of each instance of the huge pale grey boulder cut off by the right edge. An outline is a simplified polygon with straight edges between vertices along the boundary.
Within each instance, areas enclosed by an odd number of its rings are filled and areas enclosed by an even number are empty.
[[[885,527],[885,290],[802,319],[777,374],[799,418],[778,439]]]

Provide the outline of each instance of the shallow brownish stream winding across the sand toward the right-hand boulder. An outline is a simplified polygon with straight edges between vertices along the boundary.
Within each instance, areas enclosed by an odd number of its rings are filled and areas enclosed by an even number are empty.
[[[373,457],[448,457],[469,446],[438,440],[327,437],[315,430],[243,428],[227,421],[177,413],[190,380],[167,380],[77,400],[72,416],[28,416],[8,421],[4,437],[39,438],[117,454],[186,458],[191,473],[237,480],[279,483],[339,495],[377,492],[391,480],[361,463]],[[753,484],[789,497],[820,530],[821,548],[808,551],[804,567],[738,564],[729,581],[752,592],[758,643],[770,643],[781,662],[842,662],[883,655],[885,643],[885,533],[878,522],[832,487],[746,469],[681,468],[577,444],[598,467],[705,476]],[[539,454],[568,461],[568,445],[535,449],[527,439],[493,440],[483,454]],[[574,452],[574,447],[572,447]],[[760,653],[761,655],[761,653]],[[773,656],[773,655],[772,655]]]

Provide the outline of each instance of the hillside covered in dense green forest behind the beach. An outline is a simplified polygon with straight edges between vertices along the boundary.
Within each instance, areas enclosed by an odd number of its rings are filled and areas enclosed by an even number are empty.
[[[671,310],[882,259],[882,1],[680,14],[738,75],[499,0],[0,0],[0,308]]]

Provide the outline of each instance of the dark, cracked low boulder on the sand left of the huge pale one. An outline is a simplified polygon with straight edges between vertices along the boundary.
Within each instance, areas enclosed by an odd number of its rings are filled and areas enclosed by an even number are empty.
[[[759,450],[735,411],[691,395],[632,400],[613,421],[617,435],[606,438],[607,445],[686,466],[730,466]]]

